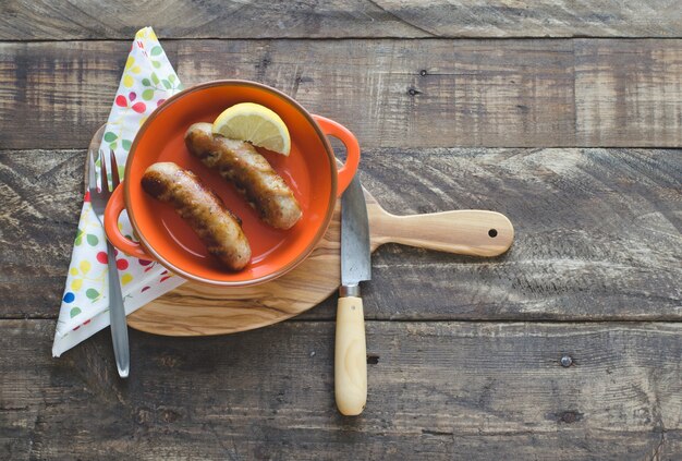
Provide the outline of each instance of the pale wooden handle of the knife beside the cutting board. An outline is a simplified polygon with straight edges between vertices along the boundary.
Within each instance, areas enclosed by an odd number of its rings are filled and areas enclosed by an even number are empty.
[[[362,298],[339,298],[334,396],[341,414],[355,416],[367,402],[367,345]]]

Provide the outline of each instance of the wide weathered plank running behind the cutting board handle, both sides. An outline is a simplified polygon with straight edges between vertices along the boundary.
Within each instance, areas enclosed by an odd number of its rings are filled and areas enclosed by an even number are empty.
[[[84,157],[0,153],[0,317],[57,315]],[[681,177],[682,150],[366,149],[363,184],[388,211],[491,209],[516,230],[495,259],[380,247],[367,317],[680,320]]]

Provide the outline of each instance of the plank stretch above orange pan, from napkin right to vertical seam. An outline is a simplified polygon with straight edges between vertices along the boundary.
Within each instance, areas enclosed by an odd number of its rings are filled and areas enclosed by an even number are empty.
[[[353,131],[364,148],[574,145],[569,40],[181,41],[191,84],[247,78]],[[224,54],[228,59],[207,59]]]

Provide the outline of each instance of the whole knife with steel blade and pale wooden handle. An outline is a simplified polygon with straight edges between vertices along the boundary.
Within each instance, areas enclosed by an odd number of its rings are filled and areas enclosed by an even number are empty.
[[[357,174],[341,197],[341,287],[337,306],[334,396],[341,414],[367,401],[367,353],[360,282],[372,279],[367,205]]]

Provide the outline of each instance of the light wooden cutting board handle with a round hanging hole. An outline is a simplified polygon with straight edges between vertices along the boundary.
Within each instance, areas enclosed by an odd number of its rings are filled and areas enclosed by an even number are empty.
[[[514,227],[502,214],[478,209],[373,216],[373,244],[403,245],[473,256],[498,256],[511,246]]]

